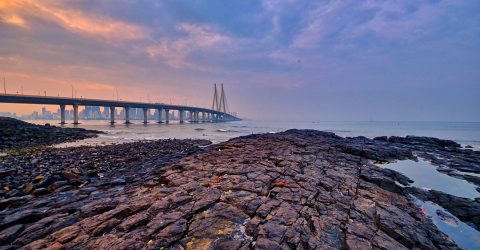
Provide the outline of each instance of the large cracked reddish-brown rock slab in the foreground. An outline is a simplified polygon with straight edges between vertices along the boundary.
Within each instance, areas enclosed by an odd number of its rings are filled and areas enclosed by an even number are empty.
[[[143,177],[135,183],[112,179],[115,185],[89,192],[77,188],[15,201],[20,205],[0,214],[0,244],[3,249],[457,248],[396,185],[394,174],[369,163],[414,158],[411,148],[394,143],[310,130],[232,139],[176,163],[139,168]]]

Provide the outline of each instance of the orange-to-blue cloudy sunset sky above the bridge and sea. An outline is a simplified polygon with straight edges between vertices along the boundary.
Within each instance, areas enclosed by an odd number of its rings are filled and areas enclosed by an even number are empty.
[[[250,119],[480,121],[479,13],[478,0],[0,0],[0,76],[8,93],[201,107],[223,83]]]

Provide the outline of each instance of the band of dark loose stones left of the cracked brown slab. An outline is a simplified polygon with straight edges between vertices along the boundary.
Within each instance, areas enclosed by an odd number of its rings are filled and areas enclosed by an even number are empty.
[[[153,178],[143,176],[147,170],[177,162],[208,144],[206,140],[162,140],[12,151],[0,158],[0,197],[41,196],[89,183],[112,186],[144,181]],[[2,204],[0,200],[0,208]]]

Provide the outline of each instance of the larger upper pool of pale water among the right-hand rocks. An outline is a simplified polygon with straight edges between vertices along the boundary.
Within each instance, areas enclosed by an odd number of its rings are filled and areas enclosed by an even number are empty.
[[[412,186],[424,189],[433,189],[442,191],[457,197],[475,199],[480,197],[480,193],[475,189],[476,186],[436,170],[436,166],[428,161],[419,159],[418,161],[404,160],[380,165],[400,172],[413,180]]]

